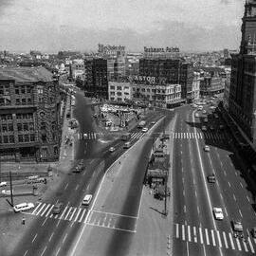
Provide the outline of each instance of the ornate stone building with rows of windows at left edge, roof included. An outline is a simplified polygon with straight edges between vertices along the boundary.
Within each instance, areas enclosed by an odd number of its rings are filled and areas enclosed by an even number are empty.
[[[44,67],[0,68],[1,160],[58,160],[60,128],[58,79]]]

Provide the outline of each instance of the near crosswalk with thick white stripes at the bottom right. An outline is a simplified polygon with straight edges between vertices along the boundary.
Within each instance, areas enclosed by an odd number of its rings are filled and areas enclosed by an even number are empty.
[[[247,240],[234,237],[231,232],[203,229],[190,225],[174,224],[174,237],[182,241],[188,241],[212,247],[223,247],[232,250],[255,253],[256,238],[247,237]]]

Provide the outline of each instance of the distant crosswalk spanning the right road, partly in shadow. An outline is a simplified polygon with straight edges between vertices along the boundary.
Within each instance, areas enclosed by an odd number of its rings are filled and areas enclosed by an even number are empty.
[[[206,133],[171,133],[171,138],[176,139],[192,139],[192,138],[199,138],[199,139],[210,139],[210,140],[225,140],[227,139],[224,134],[216,134],[212,132]]]

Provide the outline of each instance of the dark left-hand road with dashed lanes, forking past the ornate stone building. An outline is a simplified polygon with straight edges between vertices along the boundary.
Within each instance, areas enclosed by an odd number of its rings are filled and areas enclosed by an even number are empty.
[[[80,122],[80,134],[95,134],[91,106],[79,94],[76,95],[75,117]],[[159,113],[155,113],[146,119],[147,124],[159,118]],[[137,129],[132,132],[132,142],[143,136]],[[81,206],[84,194],[96,192],[105,170],[123,152],[123,141],[102,145],[98,138],[85,137],[79,140],[76,159],[84,159],[85,171],[81,174],[72,174],[70,171],[56,192],[28,212],[34,218],[33,223],[11,256],[66,255],[74,237],[86,222],[88,209]],[[109,153],[110,146],[118,148],[115,154]],[[64,210],[53,216],[51,210],[56,202],[63,202]]]

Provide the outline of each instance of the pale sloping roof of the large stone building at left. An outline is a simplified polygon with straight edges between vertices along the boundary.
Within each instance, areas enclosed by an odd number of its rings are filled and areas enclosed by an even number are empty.
[[[4,67],[0,68],[0,80],[16,82],[50,82],[52,73],[45,67]]]

